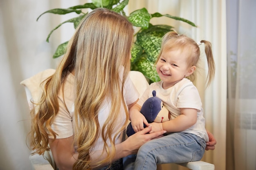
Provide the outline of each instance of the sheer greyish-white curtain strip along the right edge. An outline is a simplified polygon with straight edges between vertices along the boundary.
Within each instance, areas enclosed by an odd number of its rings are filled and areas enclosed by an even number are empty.
[[[256,1],[227,0],[227,169],[256,170]]]

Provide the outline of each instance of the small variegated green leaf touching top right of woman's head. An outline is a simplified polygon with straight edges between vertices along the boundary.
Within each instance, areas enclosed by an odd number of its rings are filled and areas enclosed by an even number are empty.
[[[128,20],[133,24],[133,26],[141,27],[142,29],[147,29],[151,15],[148,13],[146,8],[138,9],[128,16]]]

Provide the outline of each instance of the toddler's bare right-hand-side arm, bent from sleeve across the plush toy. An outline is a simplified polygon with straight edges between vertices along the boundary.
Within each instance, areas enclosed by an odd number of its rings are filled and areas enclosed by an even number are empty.
[[[167,132],[181,132],[193,126],[197,121],[197,109],[194,108],[180,108],[181,115],[175,119],[165,121],[162,123],[153,122],[152,131],[166,130]]]

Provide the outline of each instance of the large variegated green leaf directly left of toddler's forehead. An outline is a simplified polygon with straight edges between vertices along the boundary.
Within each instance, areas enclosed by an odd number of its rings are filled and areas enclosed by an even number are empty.
[[[151,62],[156,61],[161,48],[162,37],[171,31],[171,28],[171,26],[156,25],[137,34],[137,44],[144,49],[148,55],[148,60]]]

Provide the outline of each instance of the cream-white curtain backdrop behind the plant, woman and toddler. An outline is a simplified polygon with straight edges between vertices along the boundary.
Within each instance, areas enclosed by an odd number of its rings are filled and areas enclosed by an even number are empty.
[[[52,54],[58,44],[69,40],[73,33],[72,24],[66,23],[54,31],[50,43],[47,43],[45,40],[49,31],[67,18],[72,18],[73,14],[45,14],[38,22],[36,18],[49,9],[67,8],[86,2],[90,1],[0,0],[0,170],[31,169],[26,146],[26,135],[30,129],[29,108],[24,88],[19,83],[47,68],[55,68],[58,59],[52,59]],[[130,0],[126,10],[131,12],[142,7],[146,7],[150,13],[168,13],[191,20],[197,28],[164,17],[154,18],[152,22],[175,26],[180,34],[184,33],[196,41],[204,39],[212,42],[216,77],[205,90],[207,64],[202,45],[202,69],[195,84],[202,97],[206,128],[218,142],[215,150],[206,151],[203,160],[214,163],[216,170],[224,170],[227,106],[225,0]],[[169,170],[170,165],[162,168]],[[181,168],[172,166],[171,169]]]

